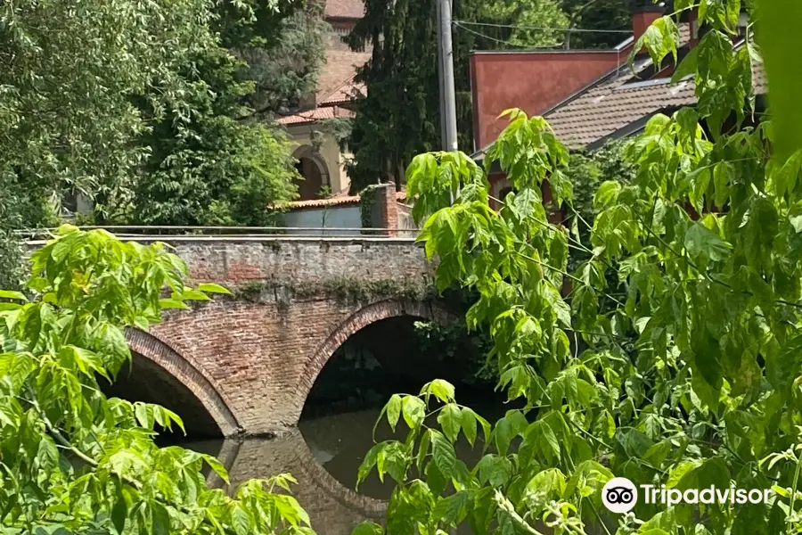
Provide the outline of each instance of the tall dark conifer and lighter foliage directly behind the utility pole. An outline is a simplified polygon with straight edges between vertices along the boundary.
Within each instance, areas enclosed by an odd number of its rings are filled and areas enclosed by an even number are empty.
[[[356,119],[348,138],[355,159],[349,165],[352,190],[396,180],[400,183],[413,155],[441,145],[439,127],[438,40],[436,3],[402,0],[388,4],[368,0],[365,17],[349,37],[354,49],[372,47],[372,59],[358,75],[367,95],[356,102]],[[565,25],[552,0],[511,2],[460,0],[454,20],[535,26]],[[457,92],[459,145],[473,143],[471,82],[468,56],[472,50],[510,46],[555,45],[561,32],[457,27],[454,30],[454,78]],[[510,42],[501,45],[499,41]]]

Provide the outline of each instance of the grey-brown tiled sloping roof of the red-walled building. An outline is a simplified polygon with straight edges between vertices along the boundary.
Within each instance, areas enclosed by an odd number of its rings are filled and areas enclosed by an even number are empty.
[[[669,78],[646,81],[634,78],[633,70],[642,72],[650,66],[651,60],[636,62],[632,69],[622,66],[544,116],[563,143],[577,148],[600,141],[659,111],[696,103],[692,79],[671,84]],[[755,91],[765,92],[762,66],[756,67],[752,78]]]

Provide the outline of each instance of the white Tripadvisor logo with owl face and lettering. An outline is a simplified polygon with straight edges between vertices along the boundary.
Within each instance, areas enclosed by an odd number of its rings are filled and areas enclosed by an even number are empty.
[[[640,491],[626,477],[607,481],[601,489],[601,502],[612,513],[628,513],[638,503],[639,495],[645,504],[660,504],[667,507],[678,504],[762,504],[773,496],[771,489],[718,489],[715,485],[707,489],[667,489],[666,485],[640,485]]]

